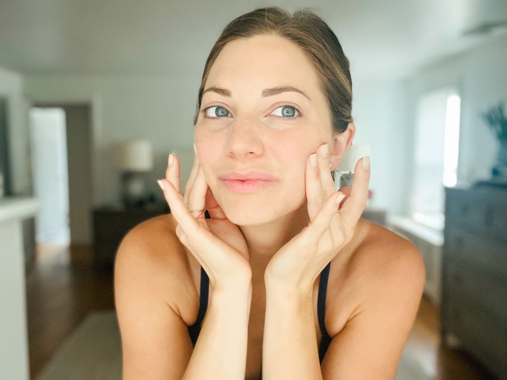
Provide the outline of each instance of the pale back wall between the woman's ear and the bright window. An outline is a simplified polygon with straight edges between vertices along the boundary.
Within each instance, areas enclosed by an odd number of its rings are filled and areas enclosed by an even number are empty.
[[[413,126],[407,124],[409,104],[403,80],[359,77],[352,72],[353,144],[371,149],[371,206],[403,214],[410,185]]]

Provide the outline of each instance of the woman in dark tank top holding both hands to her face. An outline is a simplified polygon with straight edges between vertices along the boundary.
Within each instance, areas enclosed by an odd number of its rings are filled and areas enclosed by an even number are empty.
[[[170,155],[159,183],[171,214],[118,251],[125,380],[394,377],[424,265],[359,219],[369,157],[335,191],[351,99],[348,60],[314,14],[259,9],[226,27],[199,89],[185,194]]]

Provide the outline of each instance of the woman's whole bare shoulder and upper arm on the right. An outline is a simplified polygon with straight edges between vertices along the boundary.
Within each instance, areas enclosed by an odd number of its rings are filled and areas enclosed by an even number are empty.
[[[408,240],[365,220],[340,253],[343,275],[326,315],[332,342],[322,375],[392,379],[424,287],[422,257]]]

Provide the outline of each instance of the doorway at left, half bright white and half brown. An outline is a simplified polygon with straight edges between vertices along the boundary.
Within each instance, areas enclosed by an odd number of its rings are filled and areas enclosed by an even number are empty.
[[[90,105],[35,105],[30,109],[30,136],[34,196],[44,203],[36,219],[37,242],[90,245]]]

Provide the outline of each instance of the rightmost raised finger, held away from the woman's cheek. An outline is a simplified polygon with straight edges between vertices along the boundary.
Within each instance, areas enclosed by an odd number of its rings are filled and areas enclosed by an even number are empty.
[[[368,202],[368,184],[370,181],[370,157],[363,157],[357,161],[354,169],[354,179],[350,188],[350,196],[343,202],[340,214],[350,227],[354,227],[363,214]]]

